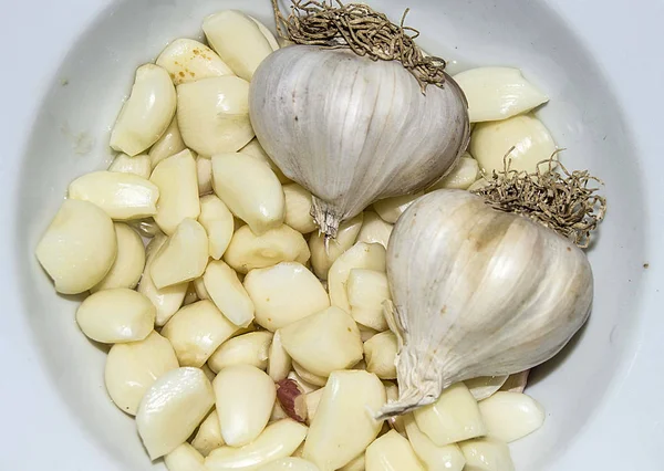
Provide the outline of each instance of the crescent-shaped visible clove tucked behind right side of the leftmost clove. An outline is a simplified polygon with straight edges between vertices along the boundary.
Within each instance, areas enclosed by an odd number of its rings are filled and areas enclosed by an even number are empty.
[[[90,289],[92,293],[114,287],[134,289],[145,266],[145,248],[141,236],[125,223],[115,222],[113,226],[117,239],[117,255],[106,276]]]

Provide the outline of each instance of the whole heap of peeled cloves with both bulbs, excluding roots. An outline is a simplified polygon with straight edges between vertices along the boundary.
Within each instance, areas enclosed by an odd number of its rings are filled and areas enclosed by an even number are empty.
[[[59,293],[86,294],[77,325],[111,345],[106,391],[149,458],[513,470],[507,444],[544,421],[528,370],[585,321],[592,273],[467,190],[508,151],[526,171],[554,153],[531,114],[548,98],[507,67],[424,95],[397,61],[279,49],[235,10],[203,31],[138,67],[118,154],[37,247]]]

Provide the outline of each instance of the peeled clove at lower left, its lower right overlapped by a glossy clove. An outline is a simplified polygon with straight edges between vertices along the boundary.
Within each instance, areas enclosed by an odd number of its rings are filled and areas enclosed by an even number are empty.
[[[170,342],[152,331],[143,341],[111,347],[104,371],[106,390],[122,411],[134,416],[145,391],[158,377],[177,367]]]

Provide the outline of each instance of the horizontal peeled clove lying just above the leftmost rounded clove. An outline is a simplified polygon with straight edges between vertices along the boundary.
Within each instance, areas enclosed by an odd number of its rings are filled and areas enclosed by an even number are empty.
[[[159,189],[134,174],[93,171],[72,181],[68,195],[98,206],[114,220],[128,220],[156,214]]]

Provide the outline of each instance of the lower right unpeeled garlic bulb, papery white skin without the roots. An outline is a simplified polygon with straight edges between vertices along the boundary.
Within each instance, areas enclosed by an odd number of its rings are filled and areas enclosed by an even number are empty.
[[[463,190],[438,190],[394,228],[387,278],[400,338],[397,415],[454,383],[531,368],[583,325],[593,293],[588,258],[530,218]]]

